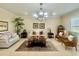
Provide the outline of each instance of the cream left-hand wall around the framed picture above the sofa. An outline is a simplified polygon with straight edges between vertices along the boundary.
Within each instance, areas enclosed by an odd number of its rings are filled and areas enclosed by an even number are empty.
[[[15,17],[16,17],[15,14],[0,8],[0,21],[8,22],[8,31],[10,32],[14,32],[14,26],[12,21],[14,20]]]

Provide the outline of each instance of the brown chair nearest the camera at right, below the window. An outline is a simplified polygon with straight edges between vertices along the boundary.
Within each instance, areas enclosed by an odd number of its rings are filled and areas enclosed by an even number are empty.
[[[69,31],[68,35],[72,36],[73,38],[69,38],[69,36],[67,38],[63,38],[63,43],[65,45],[65,48],[75,47],[75,50],[77,51],[78,34],[76,32]],[[72,40],[70,40],[70,39],[72,39]]]

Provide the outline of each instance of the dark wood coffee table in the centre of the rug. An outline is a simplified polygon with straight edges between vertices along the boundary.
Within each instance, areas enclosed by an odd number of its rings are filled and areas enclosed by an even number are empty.
[[[46,38],[44,36],[35,36],[28,40],[28,47],[46,47]]]

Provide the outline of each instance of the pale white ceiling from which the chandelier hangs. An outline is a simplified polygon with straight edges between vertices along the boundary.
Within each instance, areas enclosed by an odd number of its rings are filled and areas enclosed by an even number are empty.
[[[40,8],[40,3],[0,3],[0,8],[6,9],[17,15],[32,16]],[[79,8],[78,3],[44,3],[43,9],[47,11],[50,16],[56,13],[55,16],[61,16]]]

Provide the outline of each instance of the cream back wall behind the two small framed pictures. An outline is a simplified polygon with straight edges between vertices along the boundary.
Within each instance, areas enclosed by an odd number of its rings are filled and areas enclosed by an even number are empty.
[[[33,31],[33,23],[40,23],[41,21],[39,20],[36,20],[34,18],[31,18],[31,17],[24,17],[22,16],[23,19],[24,19],[24,23],[25,23],[25,26],[24,28],[27,30],[27,32],[31,32]],[[45,23],[45,29],[44,31],[47,32],[48,28],[51,28],[51,31],[55,34],[56,33],[56,29],[58,27],[58,25],[60,25],[60,17],[52,17],[50,19],[47,19],[46,21],[42,21],[42,23]],[[40,30],[40,29],[38,29]],[[36,31],[38,31],[36,29]]]

